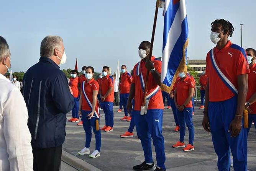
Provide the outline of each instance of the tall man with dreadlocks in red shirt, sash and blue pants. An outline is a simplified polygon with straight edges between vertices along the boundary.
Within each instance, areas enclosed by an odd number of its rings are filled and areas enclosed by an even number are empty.
[[[230,170],[230,150],[235,171],[247,171],[247,138],[243,110],[248,91],[249,65],[245,50],[228,41],[234,28],[220,19],[212,24],[211,41],[217,44],[206,57],[203,128],[212,133],[218,169]]]

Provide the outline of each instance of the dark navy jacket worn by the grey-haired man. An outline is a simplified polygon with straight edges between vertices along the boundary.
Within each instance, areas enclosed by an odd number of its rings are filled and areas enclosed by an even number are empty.
[[[66,114],[74,106],[67,78],[47,57],[28,69],[23,78],[32,147],[49,148],[65,140]],[[16,118],[18,119],[18,118]]]

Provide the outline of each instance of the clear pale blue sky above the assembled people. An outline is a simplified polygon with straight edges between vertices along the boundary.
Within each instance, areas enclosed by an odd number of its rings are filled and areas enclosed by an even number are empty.
[[[117,60],[128,71],[139,61],[138,46],[151,40],[156,0],[8,0],[0,5],[0,36],[11,50],[14,72],[28,70],[40,58],[40,43],[47,35],[61,36],[67,55],[63,68],[82,66],[96,72],[102,66],[116,71]],[[189,59],[205,59],[215,45],[210,41],[210,24],[229,20],[235,31],[230,40],[256,49],[256,0],[186,0],[189,23]],[[153,55],[162,55],[164,17],[158,12]],[[121,67],[120,67],[121,68]]]

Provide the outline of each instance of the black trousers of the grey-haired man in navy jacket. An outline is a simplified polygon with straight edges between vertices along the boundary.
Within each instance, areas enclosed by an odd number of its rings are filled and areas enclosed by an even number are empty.
[[[59,171],[62,145],[51,148],[33,148],[34,171]]]

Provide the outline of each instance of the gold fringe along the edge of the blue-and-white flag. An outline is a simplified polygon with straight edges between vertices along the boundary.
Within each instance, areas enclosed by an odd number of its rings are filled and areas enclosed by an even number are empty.
[[[189,45],[189,38],[187,38],[187,41],[185,42],[184,46],[183,46],[183,56],[182,56],[182,59],[181,59],[181,62],[179,64],[179,67],[177,68],[175,74],[174,74],[174,77],[172,78],[172,84],[171,86],[167,86],[163,83],[161,83],[161,90],[167,92],[167,93],[170,93],[173,86],[174,86],[174,83],[176,82],[176,79],[177,77],[179,76],[179,73],[181,72],[186,72],[187,73],[187,65],[186,65],[186,56],[185,56],[185,51],[186,51],[186,48],[187,46]]]

